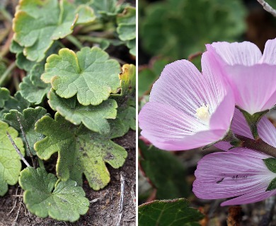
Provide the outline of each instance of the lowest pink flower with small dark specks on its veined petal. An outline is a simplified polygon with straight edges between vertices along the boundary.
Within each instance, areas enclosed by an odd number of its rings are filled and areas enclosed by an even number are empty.
[[[246,148],[206,155],[198,162],[192,191],[205,199],[238,196],[221,206],[254,203],[274,196],[276,189],[266,191],[276,177],[263,161],[270,157]]]

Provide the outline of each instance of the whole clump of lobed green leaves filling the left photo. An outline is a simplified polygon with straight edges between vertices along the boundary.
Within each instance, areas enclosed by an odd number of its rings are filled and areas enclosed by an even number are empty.
[[[16,59],[4,73],[17,66],[23,80],[11,85],[14,96],[10,86],[0,88],[0,196],[19,182],[26,207],[40,218],[74,222],[84,215],[89,201],[83,175],[94,190],[106,186],[106,164],[117,169],[127,157],[113,138],[136,129],[135,66],[120,65],[101,48],[103,42],[105,49],[132,48],[135,8],[105,3],[22,0],[16,8],[10,47]],[[117,24],[121,13],[124,21]],[[121,32],[125,25],[131,30]],[[122,41],[119,33],[127,32],[131,38]],[[11,82],[5,76],[5,83]],[[28,166],[22,171],[16,149]],[[43,164],[54,153],[57,175]]]

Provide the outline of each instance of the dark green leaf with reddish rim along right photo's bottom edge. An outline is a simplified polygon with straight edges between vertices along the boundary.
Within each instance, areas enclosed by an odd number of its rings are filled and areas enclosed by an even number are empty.
[[[169,190],[167,192],[170,192]],[[138,208],[139,226],[200,226],[202,213],[190,208],[185,198],[152,201]]]

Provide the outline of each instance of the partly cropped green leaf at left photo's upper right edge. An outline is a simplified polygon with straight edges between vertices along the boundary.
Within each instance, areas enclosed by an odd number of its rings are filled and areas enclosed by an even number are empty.
[[[135,55],[136,45],[136,8],[127,6],[125,10],[117,15],[117,33],[120,40],[127,42],[131,54]]]

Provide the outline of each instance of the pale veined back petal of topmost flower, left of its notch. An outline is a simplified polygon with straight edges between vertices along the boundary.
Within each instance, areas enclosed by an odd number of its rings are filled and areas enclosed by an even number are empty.
[[[262,57],[260,49],[251,42],[213,42],[206,47],[208,51],[215,51],[217,58],[228,65],[251,66],[257,64]]]

